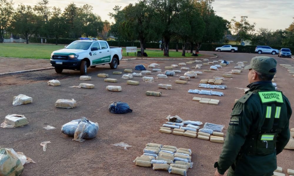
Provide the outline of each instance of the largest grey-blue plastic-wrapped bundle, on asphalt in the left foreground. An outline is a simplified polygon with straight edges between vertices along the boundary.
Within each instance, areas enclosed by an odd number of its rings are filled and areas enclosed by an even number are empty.
[[[85,139],[95,138],[99,130],[98,123],[93,123],[89,121],[88,119],[86,119],[85,117],[81,119],[73,120],[73,121],[70,121],[69,123],[64,124],[61,127],[62,133],[69,136],[74,136],[74,133],[76,132],[76,129],[78,128],[78,125],[81,122],[85,126],[85,129],[83,130],[83,138]]]

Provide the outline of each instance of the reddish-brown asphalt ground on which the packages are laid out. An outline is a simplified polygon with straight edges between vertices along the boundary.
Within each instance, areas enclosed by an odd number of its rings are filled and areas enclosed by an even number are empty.
[[[209,61],[225,59],[233,60],[234,63],[220,68],[219,71],[203,72],[197,78],[191,78],[188,84],[176,84],[174,81],[183,76],[185,71],[178,76],[168,79],[154,79],[153,83],[142,81],[142,77],[133,77],[132,80],[140,81],[139,85],[128,85],[122,75],[113,75],[109,65],[89,68],[90,81],[79,80],[79,71],[64,70],[57,74],[54,70],[42,70],[24,72],[13,75],[0,76],[0,122],[8,114],[22,114],[29,120],[29,124],[18,128],[0,128],[0,146],[13,148],[16,152],[23,152],[33,159],[36,164],[24,165],[23,176],[31,175],[170,175],[167,171],[154,171],[150,167],[136,166],[133,160],[143,154],[146,143],[160,143],[174,145],[178,148],[190,148],[192,150],[193,168],[189,169],[188,175],[213,175],[213,164],[218,160],[223,144],[186,136],[177,136],[158,132],[160,126],[166,122],[168,115],[178,115],[184,120],[202,121],[223,124],[226,133],[230,121],[230,112],[235,99],[242,97],[243,89],[248,85],[248,70],[243,70],[240,75],[233,78],[225,78],[223,85],[228,86],[225,90],[215,89],[224,93],[224,96],[208,96],[189,94],[189,89],[198,89],[201,79],[212,79],[213,76],[221,76],[229,72],[238,61],[248,61],[257,54],[245,53],[216,53],[219,57]],[[272,55],[267,55],[272,56]],[[290,58],[273,56],[278,64],[294,65]],[[185,60],[128,60],[121,61],[115,71],[123,72],[124,69],[134,69],[135,65],[145,66],[158,63],[163,71],[164,66],[186,62]],[[202,62],[205,63],[205,62]],[[201,63],[200,63],[201,64]],[[186,67],[195,66],[195,64]],[[247,65],[247,64],[245,64]],[[50,67],[46,65],[46,67]],[[203,65],[201,71],[209,69]],[[178,68],[179,69],[179,68]],[[151,70],[151,69],[147,69]],[[278,89],[283,91],[294,108],[294,77],[287,69],[278,65],[275,82]],[[134,72],[141,72],[133,70]],[[107,73],[109,78],[118,79],[116,83],[104,82],[104,78],[97,77],[98,73]],[[123,74],[127,74],[124,73]],[[156,77],[158,73],[152,72]],[[47,81],[58,79],[61,86],[49,86]],[[71,88],[70,86],[80,83],[94,84],[94,89]],[[172,84],[173,89],[158,89],[157,85]],[[121,92],[106,90],[107,85],[119,85]],[[235,88],[238,87],[238,88]],[[200,89],[200,88],[199,88]],[[209,89],[206,89],[209,90]],[[146,96],[146,91],[160,91],[161,97]],[[25,94],[33,98],[33,103],[13,106],[13,97]],[[219,105],[200,104],[192,101],[193,97],[219,99]],[[57,99],[75,99],[77,107],[74,109],[55,108]],[[108,106],[112,102],[123,101],[133,109],[128,114],[111,114]],[[99,123],[99,132],[96,138],[82,143],[72,141],[73,137],[61,133],[61,126],[71,120],[86,117]],[[43,127],[50,125],[56,127],[46,130]],[[290,128],[294,128],[293,117],[290,119]],[[40,143],[51,141],[44,152]],[[132,147],[124,150],[123,147],[112,144],[124,142]],[[278,166],[283,167],[283,173],[287,169],[293,169],[293,150],[283,150],[278,158]],[[287,175],[287,174],[286,174]]]

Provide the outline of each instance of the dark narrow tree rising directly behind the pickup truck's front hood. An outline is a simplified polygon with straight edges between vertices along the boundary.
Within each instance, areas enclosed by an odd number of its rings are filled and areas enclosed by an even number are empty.
[[[48,21],[50,28],[49,34],[53,35],[56,39],[56,45],[58,44],[58,39],[64,34],[64,31],[68,28],[68,24],[64,23],[65,17],[61,16],[61,9],[53,7],[52,16]]]

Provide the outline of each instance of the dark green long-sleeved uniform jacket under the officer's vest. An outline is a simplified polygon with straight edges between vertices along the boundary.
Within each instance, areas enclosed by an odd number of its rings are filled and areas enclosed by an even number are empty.
[[[256,91],[275,91],[275,87],[268,81],[254,82],[248,87],[249,91],[234,105],[223,150],[215,164],[222,175],[230,166],[235,170],[235,175],[262,175],[274,171],[277,168],[276,155],[282,152],[290,139],[289,119],[292,109],[284,95],[282,95],[284,103],[279,104],[281,111],[278,123],[281,131],[277,134],[276,140],[256,141],[252,137],[260,134],[257,128],[259,124],[263,125],[266,114],[266,105],[262,104]],[[253,145],[250,140],[255,140],[257,145]],[[261,145],[264,148],[260,148]],[[266,151],[271,147],[270,154],[266,153],[266,155],[262,152],[258,154],[250,152],[256,148],[259,151]]]

